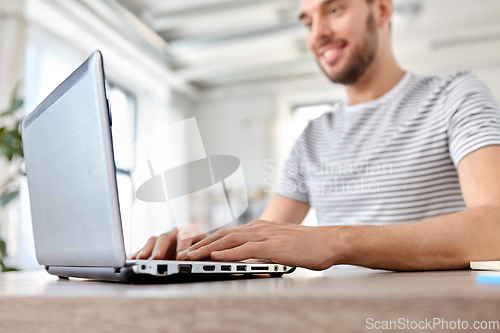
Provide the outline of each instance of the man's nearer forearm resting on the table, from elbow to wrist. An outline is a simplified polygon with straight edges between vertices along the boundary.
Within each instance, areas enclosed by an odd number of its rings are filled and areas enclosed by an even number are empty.
[[[500,205],[485,205],[425,222],[332,227],[334,264],[390,270],[464,269],[500,259]]]

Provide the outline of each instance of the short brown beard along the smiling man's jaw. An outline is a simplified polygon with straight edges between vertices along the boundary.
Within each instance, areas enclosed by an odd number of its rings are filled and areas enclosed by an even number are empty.
[[[346,66],[346,68],[339,74],[328,75],[325,69],[321,66],[320,67],[333,83],[339,83],[343,85],[353,84],[357,82],[361,76],[363,76],[363,74],[373,62],[373,59],[375,59],[377,48],[377,27],[373,14],[370,14],[370,16],[368,16],[368,19],[366,20],[366,34],[363,46],[360,50],[355,50],[356,54],[354,55],[352,61]]]

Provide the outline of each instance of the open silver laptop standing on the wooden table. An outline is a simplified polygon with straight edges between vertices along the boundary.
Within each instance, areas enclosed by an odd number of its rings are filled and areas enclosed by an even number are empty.
[[[295,269],[275,263],[127,260],[111,126],[99,51],[22,123],[36,257],[49,274],[133,282],[281,276]]]

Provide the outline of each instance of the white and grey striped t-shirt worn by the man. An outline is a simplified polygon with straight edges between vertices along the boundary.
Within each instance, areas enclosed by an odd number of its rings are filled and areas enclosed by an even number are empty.
[[[384,96],[311,121],[277,193],[308,202],[319,225],[422,221],[466,208],[456,167],[488,145],[500,145],[500,107],[486,84],[408,72]]]

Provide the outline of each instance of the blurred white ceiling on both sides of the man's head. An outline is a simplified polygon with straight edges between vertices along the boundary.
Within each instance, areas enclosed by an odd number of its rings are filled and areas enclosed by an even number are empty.
[[[170,67],[198,88],[321,75],[297,19],[300,0],[100,1],[126,8],[165,40]],[[498,61],[477,48],[500,51],[500,1],[394,3],[394,46],[404,65],[447,64],[450,54]]]

